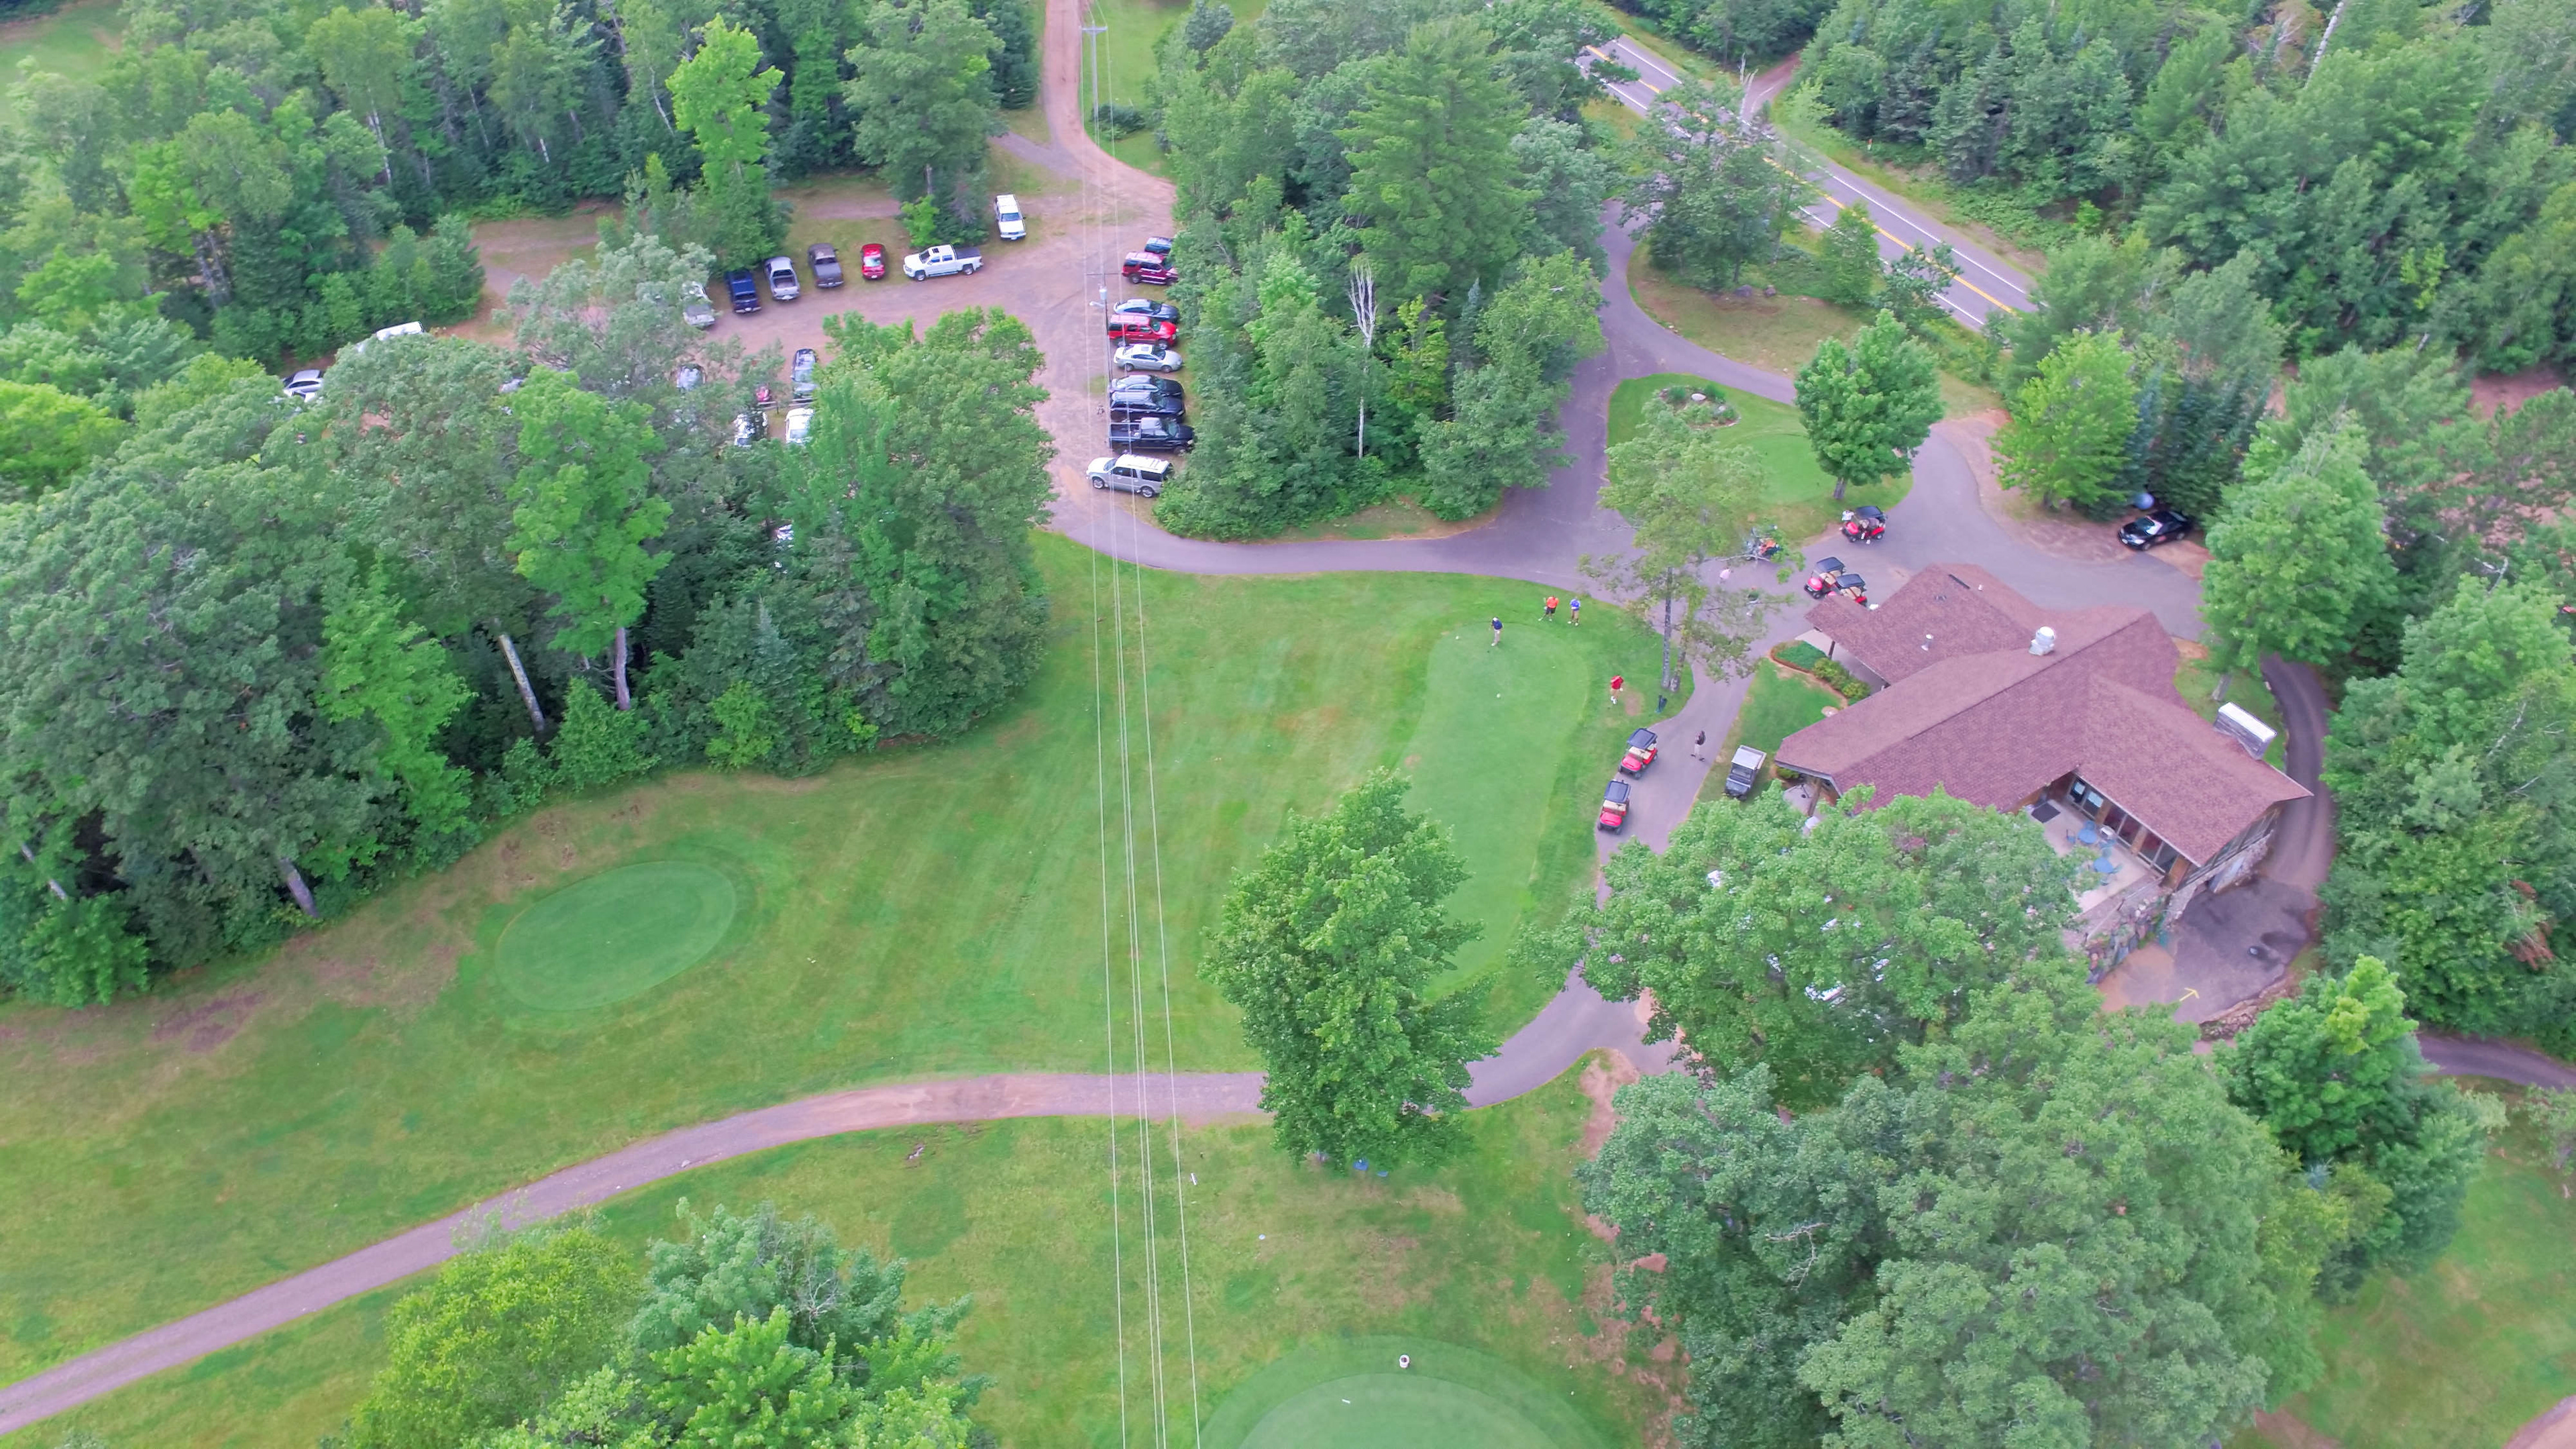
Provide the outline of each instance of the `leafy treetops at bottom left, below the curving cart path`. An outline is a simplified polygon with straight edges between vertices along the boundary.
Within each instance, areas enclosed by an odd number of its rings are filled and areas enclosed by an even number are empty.
[[[649,1269],[595,1225],[502,1235],[389,1315],[353,1449],[966,1449],[966,1302],[902,1312],[904,1263],[775,1207],[698,1217]],[[641,1307],[639,1307],[641,1305]]]

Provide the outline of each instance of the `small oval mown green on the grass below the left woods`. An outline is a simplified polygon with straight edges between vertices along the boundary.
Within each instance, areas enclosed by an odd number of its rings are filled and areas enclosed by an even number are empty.
[[[500,982],[538,1011],[587,1011],[696,967],[734,923],[734,882],[696,861],[644,861],[564,887],[500,936]]]

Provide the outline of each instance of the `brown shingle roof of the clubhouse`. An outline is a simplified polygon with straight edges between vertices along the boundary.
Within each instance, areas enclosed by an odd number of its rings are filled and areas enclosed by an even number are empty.
[[[1785,768],[1842,792],[1940,786],[2009,810],[2076,771],[2192,861],[2308,794],[2182,704],[2182,657],[2143,608],[2043,611],[1984,570],[1932,565],[1875,611],[1832,598],[1808,621],[1891,681],[1780,745]],[[2048,655],[2030,652],[2040,624]]]

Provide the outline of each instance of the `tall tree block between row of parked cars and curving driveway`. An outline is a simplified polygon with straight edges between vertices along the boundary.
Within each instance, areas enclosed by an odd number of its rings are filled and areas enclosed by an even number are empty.
[[[1157,72],[1200,446],[1159,508],[1260,536],[1540,487],[1600,351],[1605,137],[1571,0],[1203,0]]]

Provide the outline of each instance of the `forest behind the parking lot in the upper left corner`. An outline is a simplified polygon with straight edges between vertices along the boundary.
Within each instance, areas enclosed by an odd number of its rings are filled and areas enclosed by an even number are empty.
[[[951,227],[981,224],[992,111],[1038,88],[1023,0],[724,15],[698,0],[131,0],[98,77],[15,85],[0,327],[59,333],[15,348],[111,374],[121,392],[75,397],[113,413],[167,376],[160,356],[188,333],[276,364],[469,317],[474,214],[708,178],[703,229],[675,240],[742,266],[786,235],[768,180],[873,165],[904,199],[935,193]],[[44,382],[31,371],[10,376]]]

